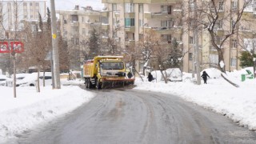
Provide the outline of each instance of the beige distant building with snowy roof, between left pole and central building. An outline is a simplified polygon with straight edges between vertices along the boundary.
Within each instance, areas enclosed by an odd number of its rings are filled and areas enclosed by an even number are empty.
[[[73,57],[79,59],[79,62],[72,62],[71,68],[78,70],[80,64],[85,60],[86,40],[90,38],[92,30],[101,30],[101,13],[93,10],[91,6],[79,8],[75,6],[74,10],[57,10],[59,14],[60,32],[68,44],[68,47],[74,50]],[[77,66],[76,66],[77,65]]]

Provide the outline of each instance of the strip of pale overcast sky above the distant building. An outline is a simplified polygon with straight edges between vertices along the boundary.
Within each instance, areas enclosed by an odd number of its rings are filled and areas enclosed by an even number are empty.
[[[50,0],[46,5],[50,8]],[[101,10],[103,7],[102,0],[55,0],[56,10],[73,10],[75,5],[92,6],[94,10]]]

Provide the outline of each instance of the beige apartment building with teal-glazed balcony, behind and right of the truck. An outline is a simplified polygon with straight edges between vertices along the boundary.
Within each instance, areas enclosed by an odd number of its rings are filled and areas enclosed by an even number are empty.
[[[163,45],[170,45],[171,39],[182,40],[182,0],[102,0],[105,9],[105,30],[122,47],[134,46],[145,36],[147,30],[154,30]],[[120,27],[117,31],[116,27]],[[142,71],[144,63],[137,62]]]

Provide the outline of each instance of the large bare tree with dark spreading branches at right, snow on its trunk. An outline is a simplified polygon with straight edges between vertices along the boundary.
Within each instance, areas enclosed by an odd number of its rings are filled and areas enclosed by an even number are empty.
[[[224,46],[229,42],[234,34],[238,33],[239,22],[242,19],[242,14],[249,6],[251,0],[230,2],[231,6],[226,6],[230,1],[226,0],[209,0],[197,3],[198,17],[191,22],[197,22],[198,27],[207,30],[210,34],[210,43],[217,50],[218,53],[218,67],[222,72],[226,73],[224,62]],[[240,3],[239,3],[240,2]],[[190,9],[193,10],[194,6],[191,1],[188,1]],[[225,7],[225,10],[224,10]],[[191,18],[191,16],[189,16]],[[223,24],[223,25],[222,25]],[[226,25],[228,24],[228,25]],[[229,24],[231,24],[229,26]],[[222,30],[222,38],[218,38],[219,30]]]

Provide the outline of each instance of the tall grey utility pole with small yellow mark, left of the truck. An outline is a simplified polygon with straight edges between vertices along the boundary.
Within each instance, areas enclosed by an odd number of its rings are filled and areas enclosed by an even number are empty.
[[[54,88],[60,89],[61,82],[59,76],[59,56],[58,56],[58,38],[57,38],[57,22],[54,0],[50,0],[50,16],[51,16],[51,33],[53,45],[53,59],[54,59]]]

